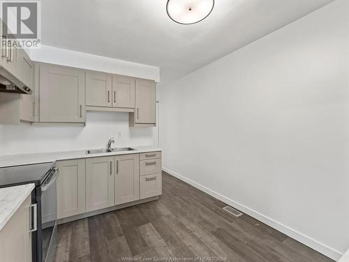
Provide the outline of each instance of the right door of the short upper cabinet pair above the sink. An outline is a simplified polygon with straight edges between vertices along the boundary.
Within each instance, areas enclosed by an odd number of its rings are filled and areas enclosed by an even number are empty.
[[[121,75],[112,76],[112,106],[135,108],[135,79]]]

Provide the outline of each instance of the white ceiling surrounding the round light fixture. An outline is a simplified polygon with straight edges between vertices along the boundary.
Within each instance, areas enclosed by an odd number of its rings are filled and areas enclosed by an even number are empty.
[[[167,0],[43,0],[42,43],[161,68],[161,85],[334,0],[216,0],[198,24],[170,20]]]

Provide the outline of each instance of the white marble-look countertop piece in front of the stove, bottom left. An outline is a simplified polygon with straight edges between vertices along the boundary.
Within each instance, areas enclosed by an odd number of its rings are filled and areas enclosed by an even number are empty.
[[[0,230],[33,191],[35,184],[0,189]]]

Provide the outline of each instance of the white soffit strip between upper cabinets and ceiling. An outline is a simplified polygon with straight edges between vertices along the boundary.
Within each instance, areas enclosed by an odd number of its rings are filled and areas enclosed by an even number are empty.
[[[156,66],[147,66],[109,57],[101,57],[95,54],[54,48],[48,45],[41,45],[40,49],[29,50],[29,56],[33,61],[59,64],[61,66],[72,66],[106,73],[117,73],[160,82],[160,68]]]

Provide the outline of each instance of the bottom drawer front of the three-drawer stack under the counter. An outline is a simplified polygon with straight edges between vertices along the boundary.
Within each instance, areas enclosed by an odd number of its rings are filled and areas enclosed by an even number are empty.
[[[140,199],[162,194],[161,173],[140,177]]]

